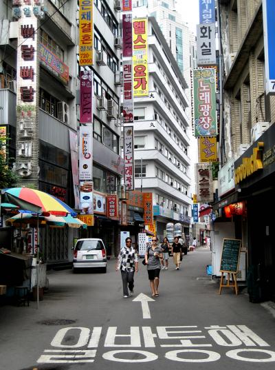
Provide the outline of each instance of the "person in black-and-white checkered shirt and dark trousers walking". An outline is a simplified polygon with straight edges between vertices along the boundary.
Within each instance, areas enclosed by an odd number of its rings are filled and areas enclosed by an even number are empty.
[[[123,285],[123,297],[133,296],[133,275],[138,271],[137,251],[132,247],[132,239],[126,238],[125,247],[123,247],[118,255],[118,263],[115,271],[120,269]],[[129,288],[129,291],[128,291]]]

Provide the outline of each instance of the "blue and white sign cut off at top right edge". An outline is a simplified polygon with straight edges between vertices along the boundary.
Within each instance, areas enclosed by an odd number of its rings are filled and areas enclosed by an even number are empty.
[[[275,94],[275,1],[263,0],[263,41],[265,46],[265,93]]]

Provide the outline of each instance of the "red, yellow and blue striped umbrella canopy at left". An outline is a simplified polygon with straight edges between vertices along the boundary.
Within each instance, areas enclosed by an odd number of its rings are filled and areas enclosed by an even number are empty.
[[[55,216],[66,216],[67,214],[76,216],[76,212],[69,205],[40,190],[28,187],[12,187],[2,190],[2,194],[4,201],[18,205],[21,209],[28,209],[39,214],[50,212]]]

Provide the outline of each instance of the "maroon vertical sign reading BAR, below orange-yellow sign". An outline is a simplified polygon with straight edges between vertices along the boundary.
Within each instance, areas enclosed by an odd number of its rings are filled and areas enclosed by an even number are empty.
[[[93,122],[93,71],[80,71],[80,123]]]

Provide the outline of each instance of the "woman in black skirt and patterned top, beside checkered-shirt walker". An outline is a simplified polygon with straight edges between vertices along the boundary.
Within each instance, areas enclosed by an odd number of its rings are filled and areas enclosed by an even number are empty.
[[[145,254],[145,263],[147,265],[152,297],[159,296],[159,271],[161,268],[160,260],[162,260],[162,247],[157,245],[157,240],[157,236],[153,236],[152,244],[148,245]]]

